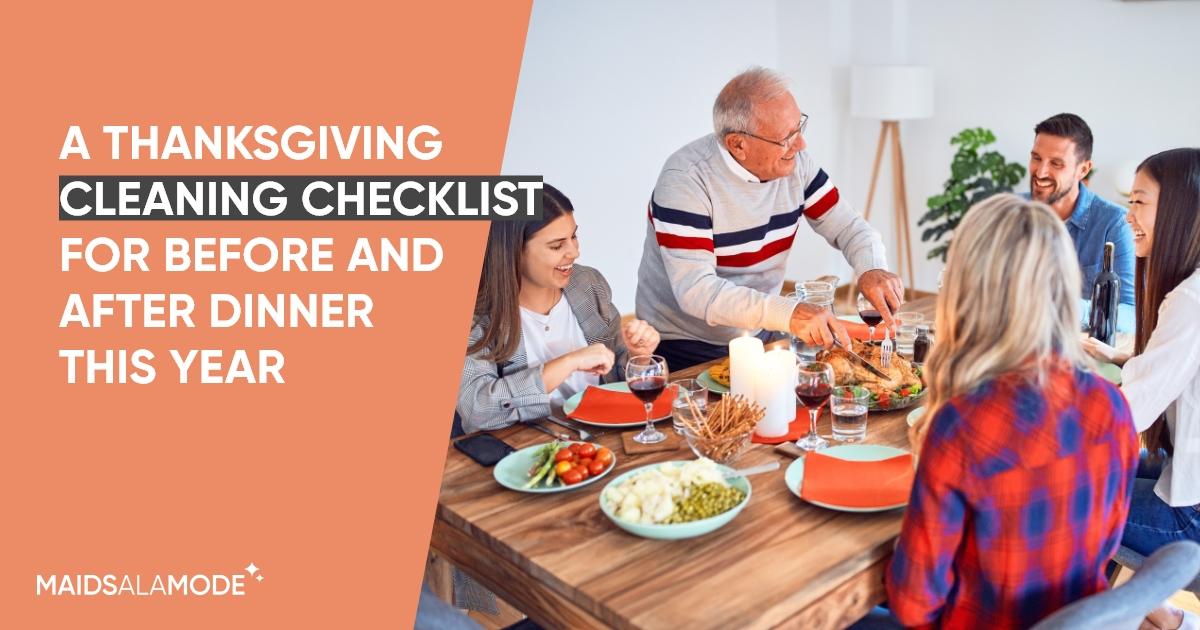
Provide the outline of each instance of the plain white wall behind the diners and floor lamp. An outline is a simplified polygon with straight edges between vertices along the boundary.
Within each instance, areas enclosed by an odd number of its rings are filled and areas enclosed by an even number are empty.
[[[1096,134],[1093,190],[1116,198],[1123,164],[1200,145],[1198,32],[1200,2],[1187,1],[536,0],[504,173],[545,175],[571,198],[581,262],[605,274],[629,312],[659,169],[712,131],[712,102],[730,77],[752,64],[792,77],[812,119],[809,151],[862,210],[880,125],[850,118],[850,66],[932,66],[936,115],[901,125],[917,287],[932,289],[941,263],[925,260],[916,221],[949,175],[952,136],[991,128],[996,148],[1027,164],[1033,126],[1073,112]],[[871,223],[892,252],[887,164]],[[848,278],[840,256],[802,227],[788,276],[830,272]]]

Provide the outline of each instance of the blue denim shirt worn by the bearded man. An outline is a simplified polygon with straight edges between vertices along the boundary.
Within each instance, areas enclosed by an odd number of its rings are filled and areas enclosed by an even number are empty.
[[[1021,193],[1025,199],[1030,193]],[[1133,305],[1133,270],[1135,256],[1133,251],[1133,229],[1124,221],[1126,209],[1098,197],[1082,182],[1079,184],[1079,199],[1075,210],[1067,218],[1067,233],[1075,242],[1075,256],[1079,269],[1084,272],[1084,286],[1080,298],[1088,304],[1092,300],[1092,282],[1104,264],[1104,244],[1112,242],[1112,271],[1121,278],[1121,304]]]

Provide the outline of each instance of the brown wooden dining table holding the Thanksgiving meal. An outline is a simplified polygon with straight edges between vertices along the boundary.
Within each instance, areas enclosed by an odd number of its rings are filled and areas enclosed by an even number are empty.
[[[935,299],[902,310],[931,322]],[[694,378],[715,362],[672,372],[672,379]],[[908,412],[871,412],[864,443],[908,450]],[[799,415],[805,422],[803,409]],[[664,428],[671,431],[670,422]],[[828,409],[818,428],[830,433]],[[516,449],[552,439],[521,425],[493,433]],[[613,478],[696,457],[682,439],[678,450],[644,455],[625,455],[619,431],[593,442],[617,455]],[[782,466],[748,478],[750,502],[727,526],[666,541],[613,524],[600,509],[602,480],[553,494],[515,492],[450,446],[430,546],[545,628],[846,628],[884,601],[904,509],[856,514],[805,503],[784,482],[791,457],[773,445],[751,444],[737,467],[772,461]]]

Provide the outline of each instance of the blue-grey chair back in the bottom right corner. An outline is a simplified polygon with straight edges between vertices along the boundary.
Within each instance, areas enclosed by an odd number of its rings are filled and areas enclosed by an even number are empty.
[[[1180,540],[1156,551],[1128,582],[1070,604],[1030,630],[1136,630],[1147,613],[1200,574],[1200,545]]]

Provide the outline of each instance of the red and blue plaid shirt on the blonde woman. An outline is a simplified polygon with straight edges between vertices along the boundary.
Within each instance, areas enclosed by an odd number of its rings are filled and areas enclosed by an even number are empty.
[[[1106,588],[1138,470],[1116,386],[1010,373],[931,422],[887,580],[901,624],[1024,629]]]

